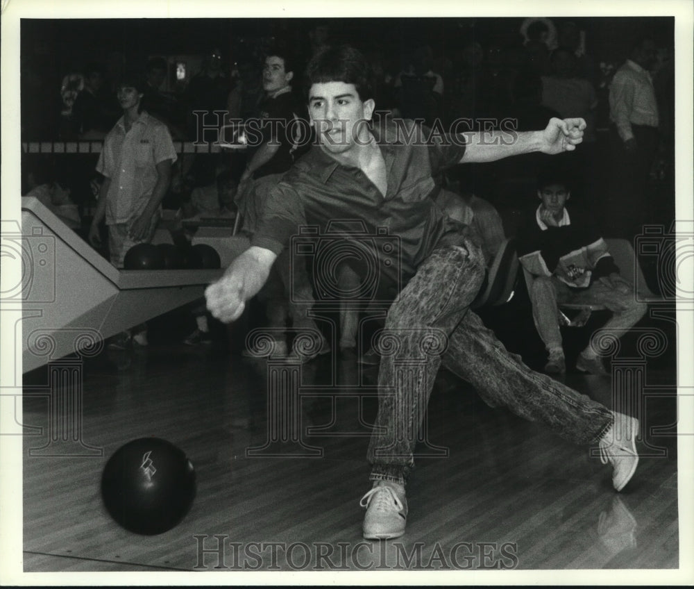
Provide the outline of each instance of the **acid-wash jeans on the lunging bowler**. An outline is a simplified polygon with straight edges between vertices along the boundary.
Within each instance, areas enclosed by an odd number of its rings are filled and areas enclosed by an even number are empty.
[[[598,442],[612,425],[605,406],[530,370],[484,327],[469,309],[483,278],[482,250],[464,240],[432,251],[393,302],[378,340],[379,406],[367,453],[372,481],[407,481],[441,363],[489,406],[543,422],[571,442]]]

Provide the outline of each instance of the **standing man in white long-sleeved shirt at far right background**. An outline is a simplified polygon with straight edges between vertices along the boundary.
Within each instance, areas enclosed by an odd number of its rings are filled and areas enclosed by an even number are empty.
[[[617,70],[609,89],[614,174],[608,216],[611,223],[619,224],[623,233],[620,236],[629,238],[650,217],[646,189],[658,146],[659,124],[649,73],[655,64],[655,49],[654,41],[648,37],[634,42],[629,58]]]

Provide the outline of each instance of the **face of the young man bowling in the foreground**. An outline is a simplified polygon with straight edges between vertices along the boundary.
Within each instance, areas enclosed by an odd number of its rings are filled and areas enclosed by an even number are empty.
[[[331,154],[344,154],[369,140],[366,121],[371,120],[375,104],[362,102],[354,84],[325,82],[311,86],[309,117],[323,149]]]

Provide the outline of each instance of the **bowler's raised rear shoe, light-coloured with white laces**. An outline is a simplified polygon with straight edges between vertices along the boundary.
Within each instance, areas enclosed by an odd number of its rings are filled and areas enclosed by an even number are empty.
[[[612,485],[620,491],[634,476],[638,465],[638,420],[615,411],[613,414],[614,422],[600,440],[600,461],[612,465]]]

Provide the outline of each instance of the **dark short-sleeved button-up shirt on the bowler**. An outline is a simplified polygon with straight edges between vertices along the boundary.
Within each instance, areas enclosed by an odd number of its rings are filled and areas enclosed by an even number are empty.
[[[339,234],[371,247],[378,270],[402,288],[434,247],[457,244],[471,233],[432,199],[439,190],[434,176],[459,163],[464,139],[437,135],[427,142],[429,130],[422,128],[425,141],[417,142],[413,129],[412,121],[401,127],[391,123],[383,135],[374,128],[386,165],[385,196],[361,169],[342,165],[313,146],[269,193],[251,244],[279,254],[297,233],[323,242]],[[317,231],[307,231],[307,225]],[[362,276],[373,271],[353,266]]]

